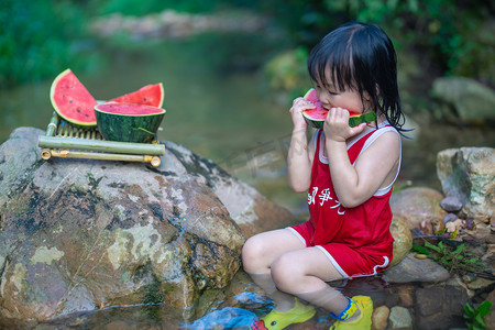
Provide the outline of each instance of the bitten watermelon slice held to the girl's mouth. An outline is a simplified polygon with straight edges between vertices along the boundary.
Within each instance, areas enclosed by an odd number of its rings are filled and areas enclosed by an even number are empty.
[[[317,92],[315,88],[310,88],[306,95],[304,96],[305,99],[310,101],[315,105],[314,109],[308,109],[302,111],[302,117],[305,118],[308,125],[316,128],[316,129],[322,129],[324,119],[327,118],[328,110],[323,108],[323,105],[318,99]],[[349,117],[349,125],[351,128],[359,125],[363,122],[371,122],[376,120],[376,113],[375,111],[366,112],[366,113],[355,113],[351,112]]]

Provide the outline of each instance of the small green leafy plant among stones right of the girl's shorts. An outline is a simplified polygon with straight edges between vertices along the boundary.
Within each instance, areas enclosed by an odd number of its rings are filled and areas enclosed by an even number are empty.
[[[473,255],[466,244],[452,248],[442,241],[437,245],[425,242],[422,246],[413,244],[413,250],[426,254],[451,273],[476,273],[484,268],[483,262]]]

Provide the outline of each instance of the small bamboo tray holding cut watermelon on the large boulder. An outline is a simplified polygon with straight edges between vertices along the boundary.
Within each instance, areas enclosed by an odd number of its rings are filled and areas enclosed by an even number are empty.
[[[156,141],[152,143],[131,143],[107,141],[97,128],[81,129],[62,120],[56,112],[41,135],[37,145],[42,148],[41,156],[47,161],[51,157],[89,158],[124,162],[150,163],[157,167],[160,156],[165,154],[165,145]]]

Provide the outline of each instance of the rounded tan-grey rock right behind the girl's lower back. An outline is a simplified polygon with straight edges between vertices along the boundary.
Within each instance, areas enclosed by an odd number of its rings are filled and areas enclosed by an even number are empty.
[[[411,187],[399,190],[391,197],[391,208],[394,216],[405,219],[407,228],[418,229],[421,222],[443,222],[447,212],[440,207],[443,196],[440,191],[426,187]]]

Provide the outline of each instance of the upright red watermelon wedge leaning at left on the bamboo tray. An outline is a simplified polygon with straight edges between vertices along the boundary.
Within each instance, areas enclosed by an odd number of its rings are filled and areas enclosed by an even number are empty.
[[[55,111],[79,127],[96,127],[97,101],[70,69],[59,74],[52,82],[50,100]]]

